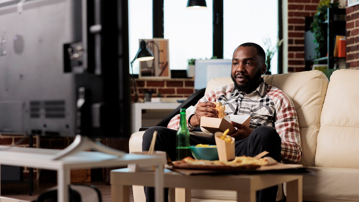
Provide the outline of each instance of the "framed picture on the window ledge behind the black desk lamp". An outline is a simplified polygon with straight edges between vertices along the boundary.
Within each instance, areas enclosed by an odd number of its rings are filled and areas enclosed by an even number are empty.
[[[169,69],[168,39],[140,39],[139,43],[142,40],[146,42],[147,49],[149,49],[153,53],[154,59],[148,61],[140,61],[139,78],[171,78],[171,70]]]

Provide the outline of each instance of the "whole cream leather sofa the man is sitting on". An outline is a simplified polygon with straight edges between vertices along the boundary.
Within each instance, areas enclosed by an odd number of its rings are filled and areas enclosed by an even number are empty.
[[[336,70],[330,82],[318,70],[263,77],[286,92],[297,109],[303,150],[299,164],[316,170],[303,176],[303,201],[359,201],[359,70]],[[213,79],[206,92],[231,82],[229,77]],[[132,134],[130,152],[141,151],[142,135]],[[143,187],[134,186],[133,192],[135,202],[145,201]],[[170,189],[170,201],[172,197]],[[191,198],[235,201],[236,193],[192,190]]]

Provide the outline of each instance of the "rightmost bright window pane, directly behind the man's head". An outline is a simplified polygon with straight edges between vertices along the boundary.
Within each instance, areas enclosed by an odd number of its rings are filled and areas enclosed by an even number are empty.
[[[262,46],[270,38],[274,46],[278,39],[278,1],[223,1],[223,58],[232,59],[233,51],[245,42]],[[272,74],[277,73],[278,53],[271,61]]]

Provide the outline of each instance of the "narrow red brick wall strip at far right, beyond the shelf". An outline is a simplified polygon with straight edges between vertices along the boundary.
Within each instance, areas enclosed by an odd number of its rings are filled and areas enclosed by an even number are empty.
[[[346,1],[348,5],[348,1]],[[346,8],[346,68],[359,69],[359,5]]]

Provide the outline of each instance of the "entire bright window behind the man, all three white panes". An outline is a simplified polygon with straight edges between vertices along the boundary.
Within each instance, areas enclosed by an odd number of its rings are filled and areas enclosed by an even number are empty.
[[[163,0],[164,38],[169,40],[169,68],[186,69],[191,58],[213,56],[213,1],[203,10],[186,9],[186,1]],[[162,12],[159,11],[159,12]],[[264,49],[270,39],[278,39],[278,1],[223,0],[223,58],[232,59],[234,49],[244,42],[255,42]],[[129,1],[130,61],[139,39],[153,37],[152,1]],[[218,39],[221,40],[221,39]],[[272,74],[278,73],[278,51],[271,61]],[[130,70],[131,72],[131,70]],[[139,73],[138,62],[134,73]]]

